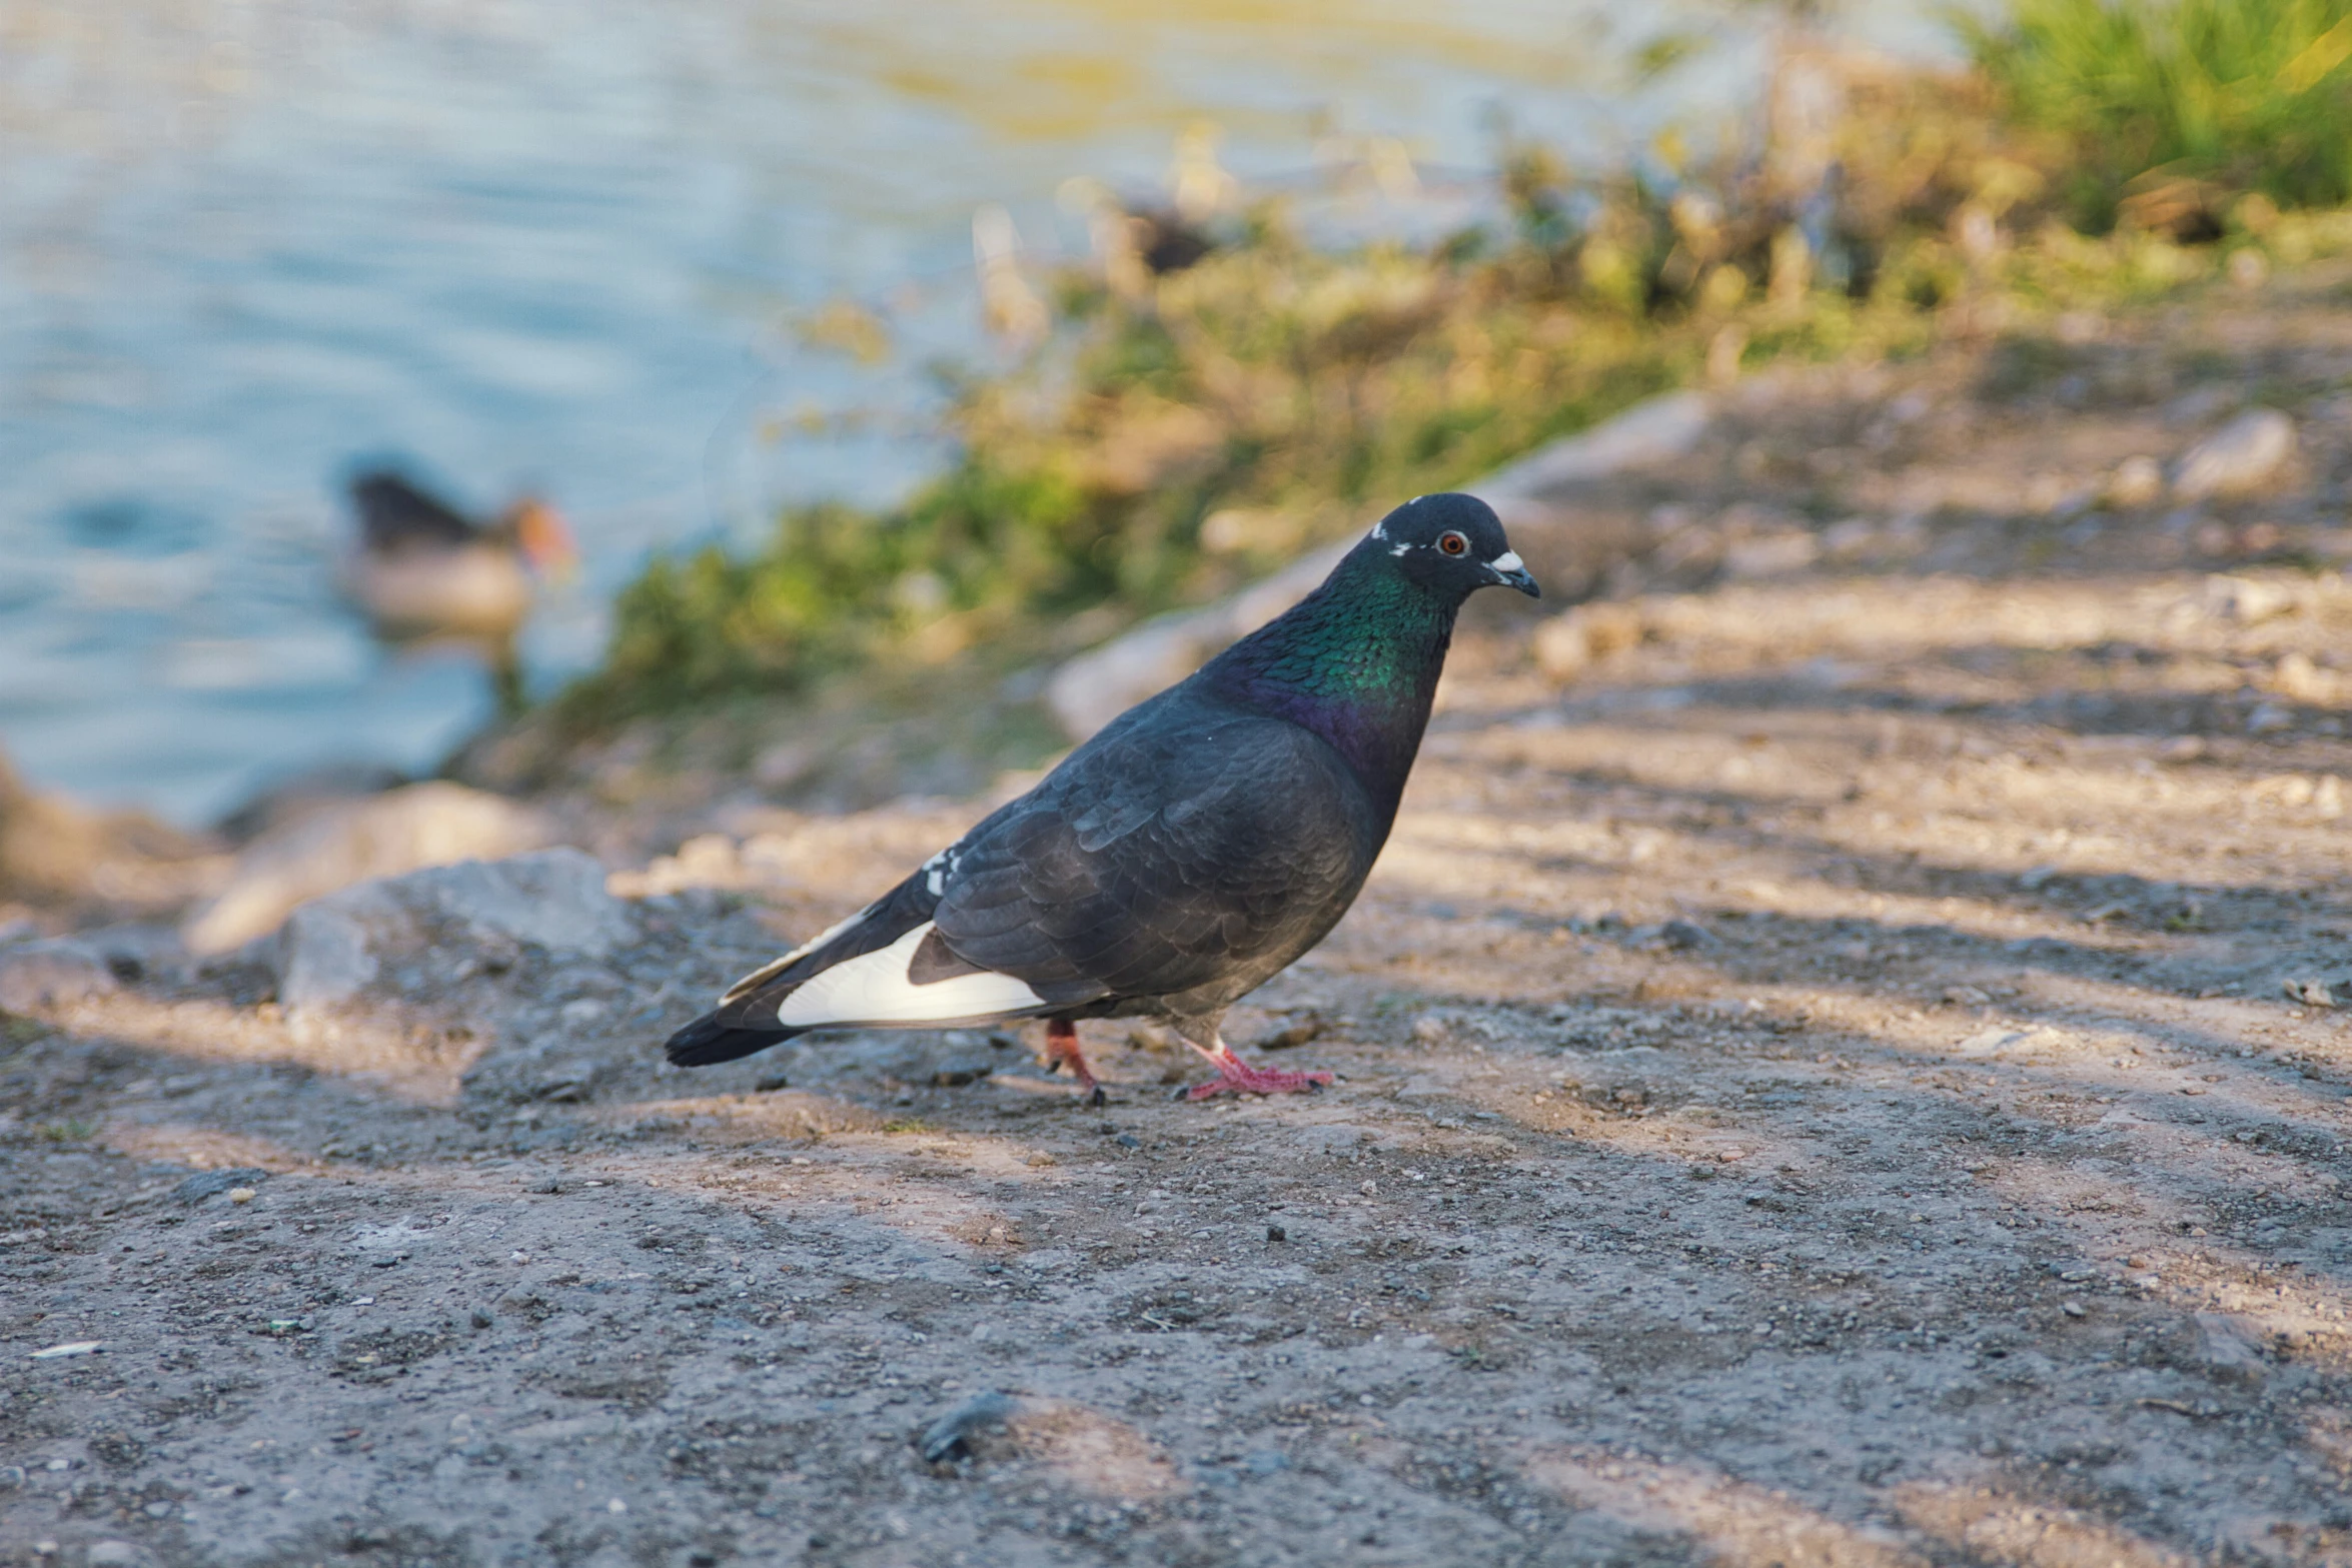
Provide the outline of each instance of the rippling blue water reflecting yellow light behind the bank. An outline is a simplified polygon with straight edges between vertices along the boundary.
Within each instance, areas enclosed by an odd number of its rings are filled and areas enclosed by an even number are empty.
[[[1917,47],[1917,14],[1853,24]],[[1675,28],[1717,47],[1611,66]],[[1606,155],[1757,59],[1755,12],[1696,0],[9,0],[0,750],[188,823],[303,766],[430,769],[487,686],[336,599],[350,463],[564,508],[588,567],[529,632],[546,684],[647,550],[936,461],[917,367],[990,353],[976,202],[1080,252],[1065,176],[1150,188],[1209,118],[1228,167],[1291,179],[1319,113],[1439,174],[1322,221],[1430,226],[1479,200],[1442,172],[1484,167],[1498,108]],[[833,296],[901,353],[797,350]],[[811,404],[898,435],[779,440]]]

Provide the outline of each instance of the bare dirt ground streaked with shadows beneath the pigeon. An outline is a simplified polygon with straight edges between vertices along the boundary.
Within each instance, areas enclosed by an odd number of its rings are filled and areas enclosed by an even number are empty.
[[[1604,599],[1550,672],[1482,614],[1235,1013],[1329,1093],[656,1063],[985,802],[713,809],[612,959],[0,1020],[0,1561],[2352,1563],[2340,299],[1757,383],[1559,496]],[[2256,494],[2114,480],[2253,397]]]

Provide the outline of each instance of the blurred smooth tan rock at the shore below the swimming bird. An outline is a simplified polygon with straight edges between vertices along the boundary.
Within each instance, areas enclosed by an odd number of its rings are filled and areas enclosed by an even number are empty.
[[[247,844],[228,886],[186,922],[181,936],[191,952],[228,952],[336,889],[430,865],[496,860],[550,837],[543,813],[454,783],[353,799]]]

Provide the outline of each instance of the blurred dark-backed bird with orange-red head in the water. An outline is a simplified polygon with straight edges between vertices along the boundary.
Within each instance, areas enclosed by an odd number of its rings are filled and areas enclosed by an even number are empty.
[[[386,642],[463,642],[489,661],[501,715],[522,710],[515,637],[546,581],[579,567],[562,512],[520,496],[494,520],[466,517],[407,475],[369,468],[350,480],[360,536],[343,592]]]

